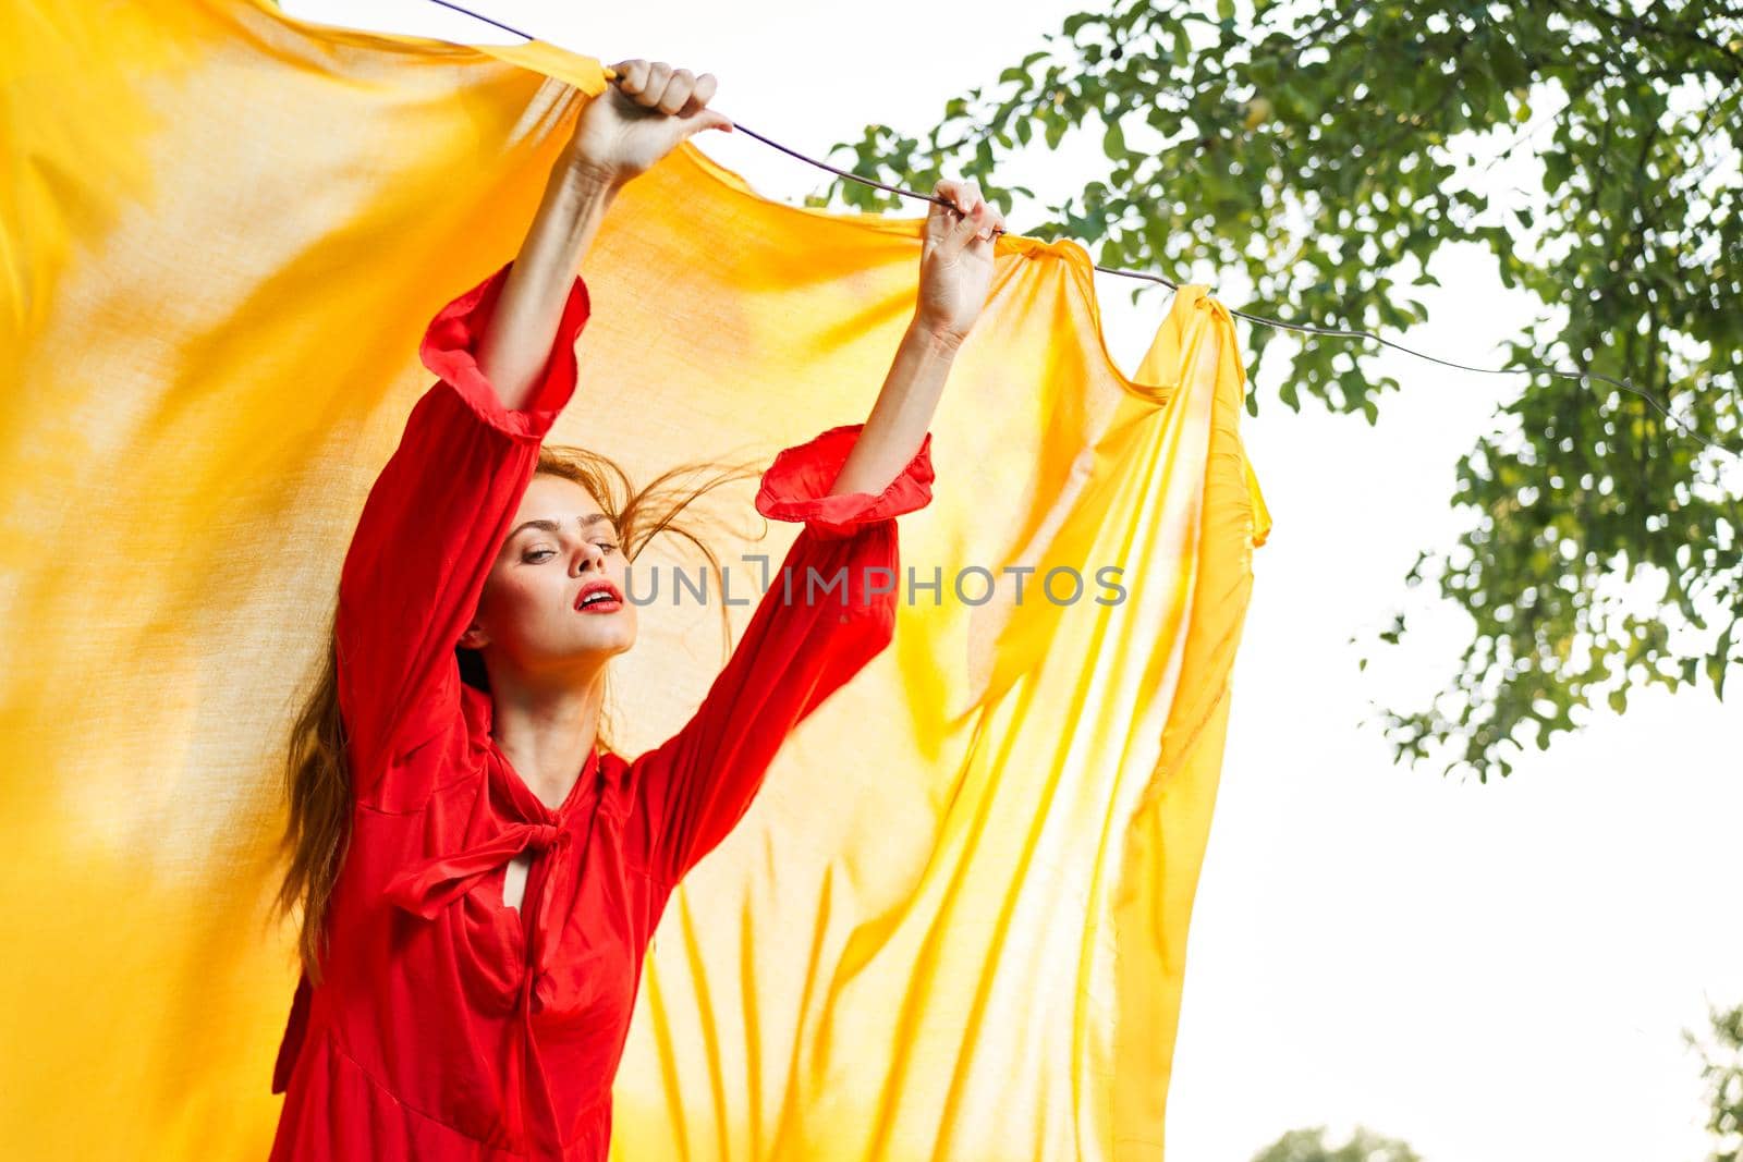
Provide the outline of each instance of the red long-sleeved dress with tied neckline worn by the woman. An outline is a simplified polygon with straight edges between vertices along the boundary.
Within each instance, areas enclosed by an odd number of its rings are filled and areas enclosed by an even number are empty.
[[[744,815],[788,732],[891,641],[894,517],[931,502],[931,434],[880,495],[823,495],[863,425],[781,451],[756,510],[804,528],[701,709],[633,761],[596,747],[551,810],[455,659],[575,390],[589,314],[577,277],[537,390],[505,409],[472,350],[507,270],[431,322],[422,359],[441,382],[411,409],[340,573],[352,836],[326,977],[300,983],[274,1070],[274,1159],[605,1159],[641,956],[673,885]],[[807,566],[821,578],[809,601]],[[824,589],[842,566],[847,587]],[[502,890],[521,852],[516,909]]]

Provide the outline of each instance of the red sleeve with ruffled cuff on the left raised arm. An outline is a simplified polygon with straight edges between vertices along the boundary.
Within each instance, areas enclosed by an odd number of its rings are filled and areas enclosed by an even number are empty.
[[[476,343],[511,267],[431,321],[418,354],[441,378],[411,408],[340,571],[338,695],[359,791],[460,713],[455,645],[532,481],[539,444],[575,390],[575,340],[589,314],[579,275],[525,409],[504,408],[479,371]]]

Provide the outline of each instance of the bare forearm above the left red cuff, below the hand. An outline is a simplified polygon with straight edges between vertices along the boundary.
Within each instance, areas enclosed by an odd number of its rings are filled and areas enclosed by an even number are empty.
[[[519,409],[528,402],[551,357],[580,260],[615,195],[614,181],[573,164],[568,150],[551,169],[539,213],[478,343],[478,368],[495,385],[504,408]]]

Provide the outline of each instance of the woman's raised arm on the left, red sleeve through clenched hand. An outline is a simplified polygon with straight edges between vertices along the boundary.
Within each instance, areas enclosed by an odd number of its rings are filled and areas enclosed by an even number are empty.
[[[713,91],[706,73],[706,89],[647,61],[617,73],[580,111],[516,258],[431,322],[420,355],[439,382],[413,406],[357,519],[335,632],[359,793],[455,719],[455,645],[539,444],[575,392],[575,341],[591,314],[579,267],[607,207],[682,138],[725,122],[692,110]],[[406,787],[411,801],[420,793]]]

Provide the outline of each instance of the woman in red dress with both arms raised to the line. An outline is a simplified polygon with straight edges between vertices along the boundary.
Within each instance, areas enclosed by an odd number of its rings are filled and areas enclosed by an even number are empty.
[[[302,904],[303,979],[275,1159],[605,1159],[673,887],[894,629],[894,517],[931,500],[931,418],[1002,228],[973,183],[938,183],[953,207],[933,206],[915,315],[866,422],[762,477],[756,510],[804,523],[793,584],[770,584],[676,735],[634,760],[600,742],[610,659],[636,639],[624,585],[648,493],[617,505],[603,472],[540,449],[575,390],[575,272],[624,183],[732,127],[708,108],[709,73],[615,71],[516,258],[431,322],[439,382],[340,573],[329,665],[289,753],[281,899]],[[844,566],[845,589],[807,594],[809,568]]]

